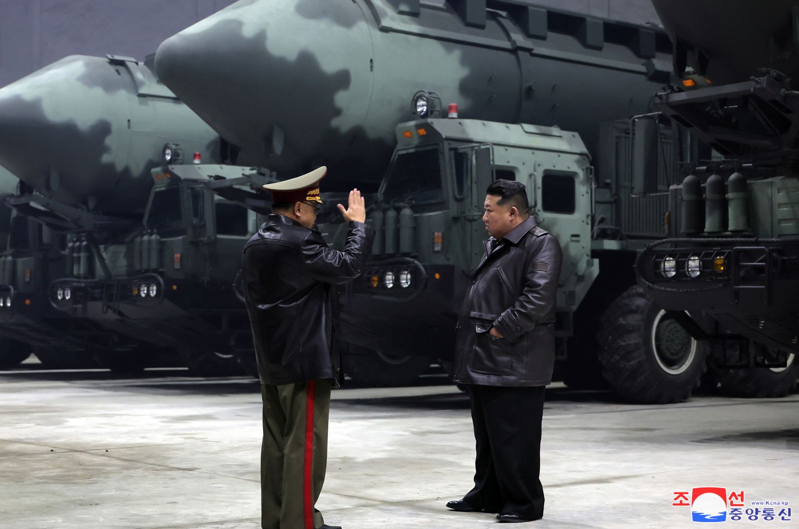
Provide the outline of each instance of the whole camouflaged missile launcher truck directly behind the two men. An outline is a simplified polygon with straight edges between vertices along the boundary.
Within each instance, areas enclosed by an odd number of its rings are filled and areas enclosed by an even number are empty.
[[[528,186],[567,257],[561,375],[596,384],[603,368],[632,400],[674,402],[697,384],[703,351],[646,292],[630,303],[627,288],[635,251],[663,236],[682,143],[654,151],[667,161],[662,195],[634,201],[634,140],[618,124],[650,112],[670,52],[657,28],[523,0],[243,0],[167,39],[156,67],[276,177],[328,165],[328,190],[379,189],[372,261],[342,292],[354,379],[402,384],[431,361],[447,365],[484,251],[484,190],[508,177]],[[451,102],[460,117],[447,120]],[[343,233],[320,229],[331,241]],[[650,307],[657,317],[627,324]],[[633,357],[619,362],[602,328],[624,325]]]

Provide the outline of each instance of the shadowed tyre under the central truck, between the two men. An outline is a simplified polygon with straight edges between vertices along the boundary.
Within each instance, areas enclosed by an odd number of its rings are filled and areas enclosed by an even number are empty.
[[[356,346],[344,357],[344,373],[360,386],[409,386],[429,367],[427,356],[392,356]]]

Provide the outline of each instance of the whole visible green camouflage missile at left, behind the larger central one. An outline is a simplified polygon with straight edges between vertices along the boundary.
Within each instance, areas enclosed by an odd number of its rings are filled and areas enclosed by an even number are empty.
[[[167,141],[219,150],[217,134],[129,58],[73,56],[0,89],[0,164],[48,198],[143,213]]]

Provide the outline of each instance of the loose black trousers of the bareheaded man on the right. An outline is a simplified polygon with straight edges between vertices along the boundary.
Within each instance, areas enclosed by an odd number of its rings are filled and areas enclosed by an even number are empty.
[[[539,519],[544,514],[541,420],[544,386],[470,385],[477,459],[475,487],[463,497],[487,512]]]

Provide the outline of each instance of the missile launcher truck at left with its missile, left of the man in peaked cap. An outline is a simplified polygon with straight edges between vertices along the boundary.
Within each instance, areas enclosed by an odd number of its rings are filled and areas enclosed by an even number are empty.
[[[231,340],[230,313],[244,313],[232,286],[237,261],[227,269],[236,245],[221,239],[228,229],[245,241],[250,213],[161,170],[222,161],[227,151],[149,66],[117,56],[54,63],[0,89],[0,137],[0,163],[22,181],[7,200],[20,224],[18,273],[0,287],[11,300],[0,325],[49,360],[89,351],[136,371],[177,350],[194,372],[237,369],[235,356],[213,348]],[[189,232],[201,251],[172,244]],[[180,281],[167,284],[165,269]],[[205,293],[205,303],[188,292]],[[154,301],[165,297],[174,302],[160,310]],[[203,320],[209,305],[213,320]]]

